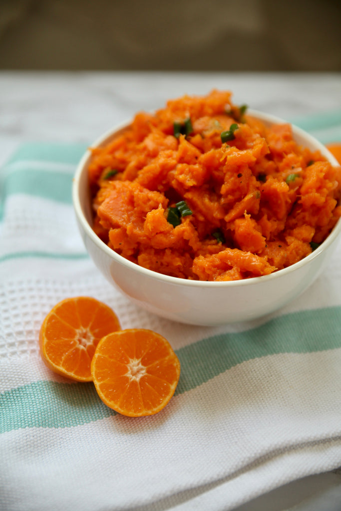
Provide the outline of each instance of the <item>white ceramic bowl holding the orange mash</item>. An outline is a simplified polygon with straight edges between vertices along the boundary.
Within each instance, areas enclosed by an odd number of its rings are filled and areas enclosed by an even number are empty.
[[[248,114],[265,124],[282,119],[256,110]],[[92,147],[107,144],[128,124],[101,136]],[[338,165],[334,156],[315,138],[292,126],[299,145],[320,150]],[[218,325],[246,321],[280,309],[312,284],[336,246],[341,230],[339,221],[328,238],[302,261],[270,275],[232,282],[191,281],[142,268],[111,250],[92,229],[92,212],[87,168],[91,154],[83,155],[73,181],[73,204],[85,247],[107,280],[135,304],[168,319],[197,325]]]

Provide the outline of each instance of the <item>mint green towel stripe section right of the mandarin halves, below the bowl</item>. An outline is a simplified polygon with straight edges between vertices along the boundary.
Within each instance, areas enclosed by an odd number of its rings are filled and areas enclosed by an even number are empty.
[[[179,350],[183,378],[177,393],[254,358],[279,353],[310,353],[341,347],[341,308],[301,311],[236,334],[220,334]]]

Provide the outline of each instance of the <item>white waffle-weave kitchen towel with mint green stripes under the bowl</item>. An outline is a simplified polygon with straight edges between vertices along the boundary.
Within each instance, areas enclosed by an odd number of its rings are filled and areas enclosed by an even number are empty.
[[[314,122],[329,142],[330,123]],[[27,144],[0,174],[1,511],[228,510],[341,466],[341,244],[309,290],[266,318],[203,328],[156,317],[86,254],[71,202],[84,149]],[[40,324],[77,295],[172,344],[181,375],[160,413],[121,416],[92,383],[43,364]]]

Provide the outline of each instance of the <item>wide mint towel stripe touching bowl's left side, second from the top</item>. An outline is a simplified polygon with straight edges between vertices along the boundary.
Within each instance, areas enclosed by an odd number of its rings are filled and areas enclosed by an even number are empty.
[[[13,170],[5,178],[3,196],[23,193],[71,204],[72,178],[70,172]]]

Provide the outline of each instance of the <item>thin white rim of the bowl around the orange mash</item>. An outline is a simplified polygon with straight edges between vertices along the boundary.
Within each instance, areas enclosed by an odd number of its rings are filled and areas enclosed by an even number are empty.
[[[266,112],[261,112],[259,110],[255,109],[248,109],[247,114],[249,117],[255,117],[263,122],[271,123],[271,124],[288,124],[288,121],[285,121],[284,119],[277,117],[276,115],[268,114]],[[97,140],[93,144],[90,144],[89,148],[94,147],[101,147],[104,144],[108,143],[110,139],[113,137],[114,134],[123,131],[126,129],[131,123],[131,119],[129,121],[120,123],[107,131],[105,131],[102,135],[100,135]],[[333,165],[333,166],[339,166],[338,161],[333,156],[333,154],[314,136],[312,136],[307,131],[303,130],[302,128],[299,128],[295,124],[289,123],[292,127],[293,134],[297,134],[307,141],[307,143],[310,143],[311,145],[314,145],[316,150],[319,150],[323,156],[325,156],[326,159]],[[96,234],[93,230],[92,226],[87,221],[84,213],[83,208],[80,201],[80,190],[79,190],[79,184],[80,184],[80,178],[82,176],[82,173],[85,172],[85,169],[87,169],[87,164],[90,160],[90,157],[92,156],[92,153],[90,152],[90,149],[87,149],[83,156],[81,157],[75,174],[73,178],[73,184],[72,184],[72,201],[74,206],[74,211],[76,214],[76,217],[78,221],[80,222],[82,228],[84,229],[86,235],[92,240],[95,245],[101,250],[103,250],[111,259],[115,260],[117,263],[127,267],[128,269],[131,269],[135,272],[141,273],[142,275],[152,278],[153,280],[162,281],[164,283],[173,284],[177,286],[186,286],[186,287],[193,287],[193,288],[234,288],[234,287],[243,287],[243,286],[250,286],[252,284],[261,284],[266,283],[269,281],[272,281],[274,279],[278,279],[281,277],[284,277],[288,273],[294,272],[299,270],[302,266],[306,266],[311,261],[316,259],[321,255],[323,251],[325,251],[338,237],[340,231],[341,231],[341,218],[336,222],[335,226],[333,227],[330,234],[327,236],[327,238],[310,254],[308,254],[305,258],[301,259],[301,261],[298,261],[297,263],[292,264],[291,266],[288,266],[286,268],[283,268],[281,270],[277,270],[275,272],[272,272],[268,275],[260,275],[256,277],[250,277],[250,278],[244,278],[238,281],[196,281],[196,280],[189,280],[187,278],[180,278],[180,277],[173,277],[171,275],[165,275],[163,273],[158,273],[154,270],[149,270],[148,268],[144,268],[143,266],[139,266],[137,263],[133,263],[129,261],[128,259],[125,259],[122,255],[115,252],[115,250],[112,250],[108,245],[106,245]]]

